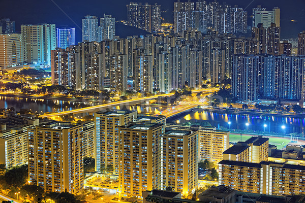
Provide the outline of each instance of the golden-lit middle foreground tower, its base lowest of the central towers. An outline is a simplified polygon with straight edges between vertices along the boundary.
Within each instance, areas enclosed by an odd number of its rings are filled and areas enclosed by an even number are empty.
[[[158,138],[165,132],[161,123],[129,123],[119,131],[119,195],[142,198],[142,191],[158,188]]]

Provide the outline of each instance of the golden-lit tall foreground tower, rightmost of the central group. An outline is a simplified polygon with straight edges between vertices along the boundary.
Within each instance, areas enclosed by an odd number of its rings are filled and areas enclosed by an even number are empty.
[[[171,187],[184,195],[198,185],[198,131],[170,129],[158,138],[161,156],[156,168],[160,180],[159,189]]]

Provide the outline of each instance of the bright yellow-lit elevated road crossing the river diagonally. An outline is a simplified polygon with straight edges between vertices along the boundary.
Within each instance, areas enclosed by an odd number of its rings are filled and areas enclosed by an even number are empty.
[[[193,93],[198,93],[198,92],[211,93],[218,89],[219,88],[198,89],[198,90],[193,90],[192,92]],[[85,107],[82,109],[75,109],[75,110],[71,110],[71,111],[63,111],[63,112],[59,112],[59,113],[46,114],[46,115],[42,115],[42,117],[51,118],[51,117],[57,117],[57,116],[70,114],[70,113],[72,113],[72,114],[81,114],[81,113],[86,113],[86,112],[95,113],[95,112],[101,111],[103,109],[107,109],[107,108],[111,108],[111,107],[115,107],[115,106],[119,106],[119,105],[136,104],[136,103],[140,103],[142,101],[155,99],[158,96],[172,96],[172,95],[174,95],[174,93],[159,94],[159,95],[154,95],[154,96],[124,100],[124,101],[116,101],[113,103],[97,105],[97,106],[93,106],[93,107]]]

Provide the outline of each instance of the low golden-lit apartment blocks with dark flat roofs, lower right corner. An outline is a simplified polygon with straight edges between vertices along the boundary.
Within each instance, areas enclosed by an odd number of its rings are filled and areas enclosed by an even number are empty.
[[[304,195],[303,147],[278,150],[268,138],[252,137],[223,153],[219,184],[240,192],[266,195]]]

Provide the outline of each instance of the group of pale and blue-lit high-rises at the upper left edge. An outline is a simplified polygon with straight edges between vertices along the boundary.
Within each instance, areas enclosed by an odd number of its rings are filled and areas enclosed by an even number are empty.
[[[51,50],[75,45],[75,28],[55,28],[55,24],[46,23],[28,24],[21,25],[21,32],[16,33],[15,21],[3,19],[1,25],[1,69],[28,63],[50,66]]]

